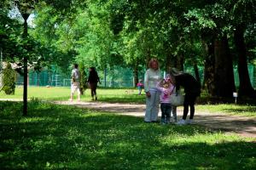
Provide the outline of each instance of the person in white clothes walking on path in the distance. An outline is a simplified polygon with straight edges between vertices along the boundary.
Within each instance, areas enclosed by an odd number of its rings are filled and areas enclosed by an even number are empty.
[[[79,65],[74,64],[73,70],[71,72],[71,94],[70,94],[70,101],[73,101],[73,94],[75,91],[78,92],[78,100],[80,100],[80,82],[79,82]]]

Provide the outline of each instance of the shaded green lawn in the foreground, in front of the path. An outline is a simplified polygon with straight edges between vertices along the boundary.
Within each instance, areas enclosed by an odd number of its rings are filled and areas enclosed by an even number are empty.
[[[1,169],[255,169],[256,143],[32,100],[0,101]]]

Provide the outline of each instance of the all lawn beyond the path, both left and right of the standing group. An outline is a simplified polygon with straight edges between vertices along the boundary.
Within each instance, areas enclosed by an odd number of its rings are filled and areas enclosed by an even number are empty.
[[[16,88],[15,95],[6,95],[0,92],[0,99],[22,99],[23,88]],[[119,102],[119,103],[138,103],[145,104],[145,96],[137,95],[137,89],[111,89],[98,88],[97,94],[99,101],[102,102]],[[44,88],[29,87],[28,98],[38,98],[47,100],[67,100],[69,99],[70,88]],[[76,99],[76,96],[75,96]],[[90,89],[86,89],[81,97],[84,101],[90,101]],[[256,117],[256,105],[234,105],[234,104],[218,104],[218,105],[196,105],[196,111],[221,112],[230,115],[253,116]]]

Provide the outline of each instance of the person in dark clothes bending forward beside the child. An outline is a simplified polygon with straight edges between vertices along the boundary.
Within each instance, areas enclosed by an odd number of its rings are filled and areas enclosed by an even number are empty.
[[[201,83],[195,79],[192,75],[186,72],[177,71],[173,68],[171,73],[172,81],[176,86],[176,90],[179,90],[180,87],[184,88],[184,103],[183,103],[183,118],[177,122],[178,125],[191,124],[193,122],[195,114],[195,99],[201,94]],[[190,106],[190,116],[189,120],[186,121],[186,118],[189,113]]]

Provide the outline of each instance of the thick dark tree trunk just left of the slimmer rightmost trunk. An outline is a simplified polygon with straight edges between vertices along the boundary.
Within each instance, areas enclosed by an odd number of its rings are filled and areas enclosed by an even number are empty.
[[[232,97],[236,91],[233,63],[226,36],[214,42],[215,70],[214,84],[215,95],[218,97]]]

